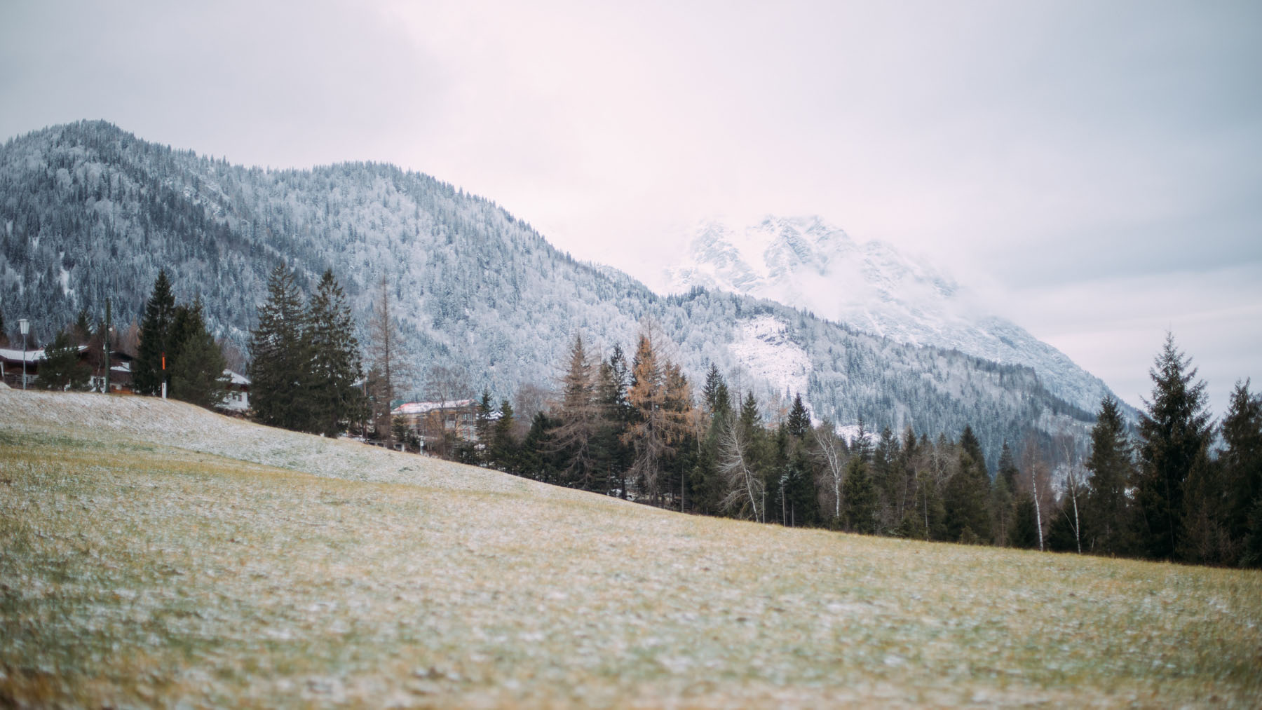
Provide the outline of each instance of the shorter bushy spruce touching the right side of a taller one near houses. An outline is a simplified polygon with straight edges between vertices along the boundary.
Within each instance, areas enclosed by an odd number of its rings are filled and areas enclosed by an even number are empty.
[[[170,397],[201,407],[213,407],[227,396],[226,363],[215,337],[206,329],[202,303],[177,306],[172,328]],[[178,339],[177,339],[178,338]]]

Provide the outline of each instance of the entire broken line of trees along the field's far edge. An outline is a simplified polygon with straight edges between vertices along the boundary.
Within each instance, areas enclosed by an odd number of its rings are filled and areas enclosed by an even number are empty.
[[[110,315],[87,313],[47,346],[39,386],[87,388]],[[309,298],[283,266],[251,332],[249,373],[264,424],[337,435],[358,426],[394,444],[390,420],[411,366],[395,343],[389,291],[369,328],[365,375],[346,294],[326,271]],[[146,300],[133,385],[202,406],[223,397],[225,359],[201,303],[177,304],[165,272]],[[88,346],[90,366],[80,357]],[[695,515],[867,535],[1262,567],[1262,397],[1237,382],[1219,421],[1205,383],[1167,335],[1132,431],[1102,400],[1085,454],[1073,436],[1005,443],[988,474],[978,438],[910,426],[852,438],[814,422],[801,396],[770,412],[711,366],[700,387],[644,332],[630,354],[593,353],[582,335],[550,404],[515,411],[483,391],[476,443],[442,455],[546,483]],[[165,368],[163,359],[165,358]],[[524,420],[520,420],[525,417]],[[1056,462],[1056,470],[1053,463]]]

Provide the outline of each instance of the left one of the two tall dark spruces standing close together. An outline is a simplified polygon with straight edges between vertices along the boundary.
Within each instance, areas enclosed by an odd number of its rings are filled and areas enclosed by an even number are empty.
[[[284,266],[268,277],[268,300],[259,306],[259,325],[250,333],[250,401],[259,421],[313,431],[307,309],[294,275]]]

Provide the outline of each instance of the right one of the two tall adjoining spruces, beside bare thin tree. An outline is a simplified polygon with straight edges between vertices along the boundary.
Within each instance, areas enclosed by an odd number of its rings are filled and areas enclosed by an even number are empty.
[[[336,436],[363,415],[367,402],[356,382],[363,377],[360,342],[346,293],[324,271],[308,308],[310,348],[309,402],[312,429]]]

